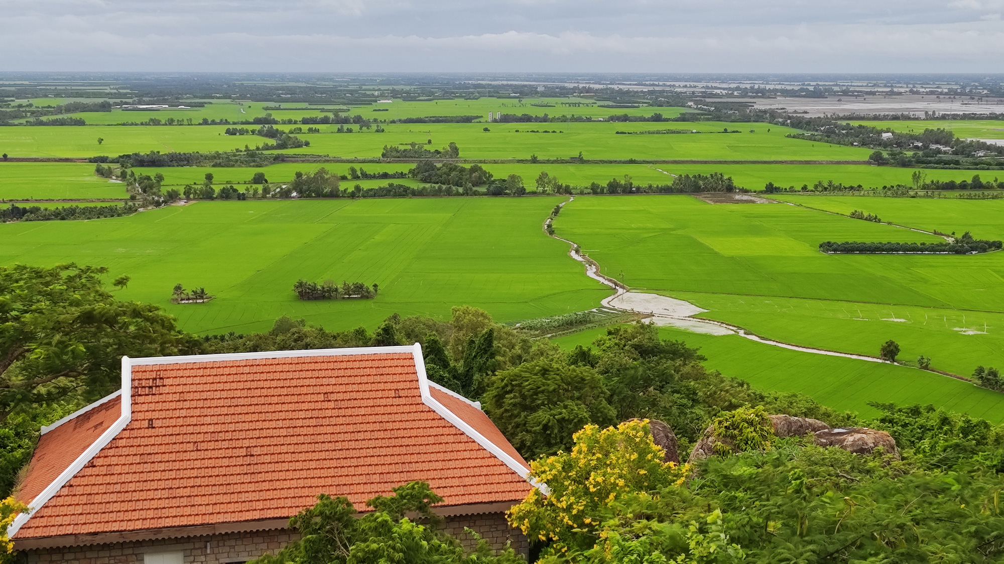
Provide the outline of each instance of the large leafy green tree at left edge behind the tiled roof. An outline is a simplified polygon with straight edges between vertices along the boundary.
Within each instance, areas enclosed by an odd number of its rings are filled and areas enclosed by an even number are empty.
[[[118,301],[103,267],[0,267],[0,419],[22,405],[116,388],[119,359],[198,352],[160,307]]]

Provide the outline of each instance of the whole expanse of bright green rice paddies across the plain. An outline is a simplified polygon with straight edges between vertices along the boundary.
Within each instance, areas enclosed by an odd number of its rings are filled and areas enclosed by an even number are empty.
[[[58,100],[36,100],[58,103]],[[265,106],[278,106],[266,110]],[[577,104],[577,105],[576,105]],[[330,114],[330,107],[283,102],[215,100],[199,108],[115,109],[81,113],[84,126],[0,127],[0,153],[13,158],[89,158],[95,155],[212,152],[252,148],[255,135],[224,134],[227,125],[118,125],[151,117],[198,122],[236,121],[271,112],[277,118]],[[722,173],[760,190],[768,183],[801,187],[818,181],[878,187],[911,184],[911,169],[854,164],[870,151],[786,136],[768,123],[731,122],[487,122],[489,111],[592,118],[613,113],[673,117],[684,108],[603,108],[578,98],[429,100],[353,105],[348,114],[380,119],[478,115],[472,123],[386,123],[372,129],[297,133],[310,146],[292,157],[343,158],[334,163],[284,163],[265,168],[139,168],[162,174],[164,186],[247,185],[255,173],[283,184],[319,167],[347,174],[408,171],[412,164],[354,163],[378,158],[384,146],[411,143],[460,147],[461,158],[483,161],[496,178],[515,174],[531,191],[541,172],[572,186],[631,177],[637,185],[668,184],[684,174]],[[373,110],[380,110],[374,112]],[[902,130],[946,126],[960,136],[994,138],[999,121],[867,122]],[[279,125],[287,128],[288,125]],[[304,126],[306,128],[306,126]],[[485,129],[488,129],[487,131]],[[698,132],[622,134],[656,129]],[[739,132],[721,132],[723,129]],[[1001,129],[1004,131],[1004,129]],[[101,138],[98,144],[97,139]],[[515,163],[581,156],[585,163]],[[603,164],[596,161],[702,161],[703,164]],[[497,161],[497,162],[491,162]],[[591,161],[591,162],[589,162]],[[747,164],[729,164],[747,161]],[[824,161],[832,164],[770,164]],[[720,162],[720,163],[716,163]],[[759,163],[757,163],[759,162]],[[124,199],[120,183],[96,177],[86,163],[0,162],[0,200]],[[993,172],[924,170],[929,180],[968,180]],[[348,180],[364,188],[412,179]],[[711,205],[689,196],[576,197],[554,223],[605,274],[633,288],[685,299],[703,317],[758,335],[841,352],[877,353],[894,339],[901,359],[929,356],[932,367],[967,375],[978,364],[1004,367],[1004,253],[979,256],[828,256],[818,243],[836,241],[938,242],[939,237],[896,226],[851,220],[853,210],[925,231],[1004,238],[1001,201],[887,199],[774,195],[780,204]],[[541,223],[561,197],[433,198],[401,200],[198,202],[129,218],[87,222],[0,225],[0,264],[76,261],[127,274],[123,299],[159,304],[198,333],[267,329],[291,315],[329,329],[374,328],[393,314],[445,318],[468,304],[496,320],[514,321],[593,308],[608,289],[585,277],[567,246],[546,237]],[[46,204],[51,205],[51,204]],[[373,300],[303,302],[299,278],[380,285]],[[206,304],[171,304],[171,288],[205,287]],[[754,385],[801,391],[840,409],[867,414],[868,401],[935,403],[994,421],[1004,420],[1004,394],[909,366],[791,351],[737,335],[710,336],[664,328],[668,337],[699,345],[708,365]],[[588,333],[561,344],[591,340]]]

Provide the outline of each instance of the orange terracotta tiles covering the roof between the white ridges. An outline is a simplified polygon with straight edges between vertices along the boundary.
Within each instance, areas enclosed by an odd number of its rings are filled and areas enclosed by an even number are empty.
[[[531,488],[423,402],[411,353],[135,365],[132,389],[129,425],[15,539],[283,518],[320,493],[361,507],[413,480],[443,505],[515,503]],[[431,392],[525,466],[480,409]],[[84,413],[94,425],[43,436],[21,499],[117,417],[118,402],[102,407]]]

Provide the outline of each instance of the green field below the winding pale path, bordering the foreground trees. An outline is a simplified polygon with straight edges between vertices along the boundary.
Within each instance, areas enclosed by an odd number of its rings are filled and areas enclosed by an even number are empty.
[[[563,348],[587,345],[603,329],[554,339]],[[708,357],[705,365],[760,389],[804,393],[824,405],[870,417],[868,402],[934,404],[1004,421],[1004,394],[933,372],[851,358],[788,350],[739,335],[710,336],[664,327],[663,338],[684,340]]]

